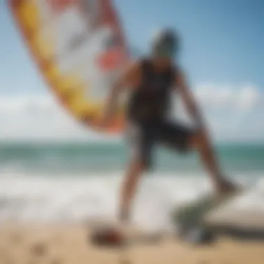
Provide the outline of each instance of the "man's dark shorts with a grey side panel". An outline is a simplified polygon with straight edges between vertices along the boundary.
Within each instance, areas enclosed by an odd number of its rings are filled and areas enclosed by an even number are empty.
[[[173,122],[138,124],[130,122],[126,129],[133,158],[137,158],[146,167],[151,167],[151,156],[156,144],[165,145],[176,151],[188,151],[193,129]]]

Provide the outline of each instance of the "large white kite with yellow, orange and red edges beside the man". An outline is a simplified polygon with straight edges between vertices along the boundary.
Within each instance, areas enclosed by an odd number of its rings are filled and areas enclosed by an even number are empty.
[[[8,0],[48,88],[74,119],[97,129],[108,91],[130,61],[112,0]],[[125,99],[109,124],[124,126]]]

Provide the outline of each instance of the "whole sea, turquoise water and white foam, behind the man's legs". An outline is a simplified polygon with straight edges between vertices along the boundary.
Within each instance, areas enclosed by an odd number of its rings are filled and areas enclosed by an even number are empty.
[[[226,175],[251,185],[238,202],[264,211],[264,144],[216,145]],[[115,217],[129,151],[122,142],[1,142],[0,220],[79,222]],[[133,220],[164,228],[175,206],[211,191],[196,152],[156,149],[154,167],[142,177]]]

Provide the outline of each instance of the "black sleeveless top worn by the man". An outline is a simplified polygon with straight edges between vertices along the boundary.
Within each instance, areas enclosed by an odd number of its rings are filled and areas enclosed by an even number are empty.
[[[175,69],[169,67],[156,72],[150,60],[141,61],[142,81],[132,91],[129,99],[128,117],[133,122],[159,122],[170,110],[171,88],[174,85]]]

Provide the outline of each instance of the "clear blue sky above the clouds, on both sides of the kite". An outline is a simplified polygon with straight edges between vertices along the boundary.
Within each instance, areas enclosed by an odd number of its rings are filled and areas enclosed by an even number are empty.
[[[247,85],[251,90],[254,87],[257,97],[261,96],[263,1],[115,0],[115,5],[129,42],[142,51],[147,51],[149,35],[155,28],[171,26],[179,31],[182,40],[179,62],[188,72],[192,87],[210,83],[216,92],[223,87],[232,92]],[[6,1],[0,3],[0,32],[0,97],[48,94],[19,37]],[[259,111],[255,109],[252,118]]]

